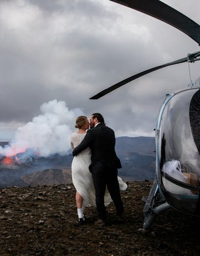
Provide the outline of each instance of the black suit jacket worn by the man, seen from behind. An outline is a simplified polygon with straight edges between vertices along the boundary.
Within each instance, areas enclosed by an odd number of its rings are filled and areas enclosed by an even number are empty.
[[[111,169],[121,168],[121,162],[115,152],[115,132],[109,127],[98,124],[93,129],[88,130],[79,146],[75,147],[73,156],[90,147],[91,165],[90,172],[98,173]]]

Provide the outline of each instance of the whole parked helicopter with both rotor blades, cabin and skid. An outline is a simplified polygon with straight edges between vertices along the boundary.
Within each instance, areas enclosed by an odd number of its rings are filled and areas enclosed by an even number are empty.
[[[200,25],[159,0],[111,0],[159,19],[187,34],[200,45]],[[200,51],[132,75],[90,99],[99,99],[143,75],[166,66],[200,60]],[[155,129],[155,180],[143,207],[143,228],[167,209],[200,217],[200,78],[188,88],[167,94]]]

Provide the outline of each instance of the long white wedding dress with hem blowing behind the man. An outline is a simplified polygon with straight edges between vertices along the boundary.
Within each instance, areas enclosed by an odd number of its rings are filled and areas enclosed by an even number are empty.
[[[80,142],[84,139],[85,134],[78,134],[74,132],[71,134],[71,147],[74,149],[76,146],[80,144]],[[71,163],[71,176],[74,187],[76,191],[83,197],[83,206],[96,206],[95,203],[95,189],[93,185],[93,178],[91,172],[89,171],[89,165],[91,163],[91,150],[88,147],[87,149],[81,151],[79,155],[73,158]],[[120,186],[120,190],[124,191],[127,189],[127,184],[122,181],[122,179],[118,176],[118,182]],[[110,197],[110,193],[106,188],[105,197],[104,197],[105,205],[109,204],[112,199]]]

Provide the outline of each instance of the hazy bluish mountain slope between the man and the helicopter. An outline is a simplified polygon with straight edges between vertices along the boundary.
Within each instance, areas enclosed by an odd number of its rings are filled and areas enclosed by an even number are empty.
[[[119,175],[130,180],[154,180],[155,178],[155,138],[118,137],[115,147],[122,168]]]

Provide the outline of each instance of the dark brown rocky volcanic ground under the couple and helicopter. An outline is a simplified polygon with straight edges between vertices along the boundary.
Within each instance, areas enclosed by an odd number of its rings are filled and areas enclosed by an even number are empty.
[[[94,207],[85,211],[86,224],[77,225],[73,185],[1,188],[0,255],[199,255],[199,218],[171,209],[141,233],[141,198],[152,182],[127,183],[125,222],[116,222],[111,203],[101,228],[94,226]]]

